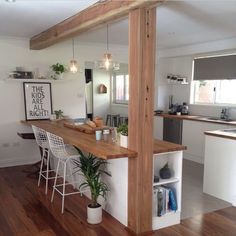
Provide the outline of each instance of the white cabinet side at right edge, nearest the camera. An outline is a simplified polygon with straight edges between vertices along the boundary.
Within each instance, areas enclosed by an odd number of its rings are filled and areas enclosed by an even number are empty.
[[[203,192],[236,205],[236,140],[206,135]]]

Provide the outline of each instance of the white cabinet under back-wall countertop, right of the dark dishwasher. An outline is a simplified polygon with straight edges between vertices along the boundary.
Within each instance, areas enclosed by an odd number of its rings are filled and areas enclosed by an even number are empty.
[[[184,158],[203,164],[205,150],[204,132],[228,127],[228,125],[224,124],[184,120],[182,144],[187,146],[187,150],[184,151]]]

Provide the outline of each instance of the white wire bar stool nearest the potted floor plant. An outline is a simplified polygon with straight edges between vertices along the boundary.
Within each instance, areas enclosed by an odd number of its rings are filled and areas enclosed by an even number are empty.
[[[80,155],[71,155],[66,151],[65,148],[65,144],[64,141],[61,137],[49,133],[47,132],[47,137],[48,137],[48,141],[49,141],[49,147],[50,150],[52,152],[52,154],[58,158],[58,163],[57,163],[57,169],[56,169],[56,176],[55,176],[55,180],[54,180],[54,185],[53,185],[53,191],[52,191],[52,197],[51,197],[51,202],[53,202],[54,199],[54,193],[55,190],[62,196],[62,207],[61,207],[61,213],[64,213],[64,203],[65,203],[65,196],[67,195],[72,195],[72,194],[77,194],[80,193],[82,196],[82,193],[88,191],[76,191],[76,192],[70,192],[70,193],[66,193],[65,192],[65,187],[66,185],[72,184],[73,187],[75,188],[75,181],[73,178],[73,173],[72,173],[72,169],[71,169],[71,165],[69,165],[69,169],[71,172],[71,177],[72,177],[72,183],[67,182],[66,183],[66,168],[67,168],[67,163],[70,164],[70,160],[71,159],[78,159],[80,158]],[[59,172],[59,167],[60,164],[63,165],[63,183],[62,184],[57,184],[57,178],[58,178],[58,172]],[[59,187],[62,186],[62,191],[59,189]]]

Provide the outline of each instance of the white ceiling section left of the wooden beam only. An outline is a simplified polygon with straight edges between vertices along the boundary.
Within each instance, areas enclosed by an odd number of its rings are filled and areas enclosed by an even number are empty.
[[[98,0],[0,0],[0,36],[30,38]]]

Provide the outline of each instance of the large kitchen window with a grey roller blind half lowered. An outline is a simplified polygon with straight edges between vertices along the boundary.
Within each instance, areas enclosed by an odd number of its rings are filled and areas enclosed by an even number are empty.
[[[193,104],[236,104],[236,55],[194,59]]]

